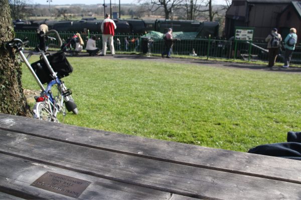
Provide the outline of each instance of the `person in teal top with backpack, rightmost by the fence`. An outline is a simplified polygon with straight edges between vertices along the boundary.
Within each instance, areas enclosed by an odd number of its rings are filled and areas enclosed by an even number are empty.
[[[284,39],[284,65],[283,68],[288,68],[289,61],[293,50],[295,49],[297,43],[297,31],[295,28],[290,28],[288,35]]]

